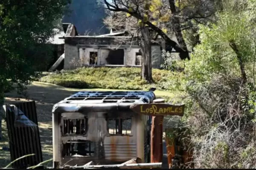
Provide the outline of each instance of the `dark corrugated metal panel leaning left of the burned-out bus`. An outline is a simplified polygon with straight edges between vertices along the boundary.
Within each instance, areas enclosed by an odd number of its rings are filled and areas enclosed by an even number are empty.
[[[9,110],[6,105],[6,124],[9,136],[10,154],[11,161],[14,161],[21,156],[35,153],[35,156],[28,156],[24,159],[15,161],[12,164],[13,168],[26,168],[39,164],[43,161],[40,135],[38,129],[38,120],[35,107],[35,101],[31,102],[20,102],[15,105],[24,115],[34,122],[37,126],[31,127],[14,127],[15,113],[13,110]]]

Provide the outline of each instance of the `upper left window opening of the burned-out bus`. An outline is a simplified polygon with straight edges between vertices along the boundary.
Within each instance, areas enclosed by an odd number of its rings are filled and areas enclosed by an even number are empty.
[[[88,130],[88,118],[63,119],[62,135],[85,135]]]

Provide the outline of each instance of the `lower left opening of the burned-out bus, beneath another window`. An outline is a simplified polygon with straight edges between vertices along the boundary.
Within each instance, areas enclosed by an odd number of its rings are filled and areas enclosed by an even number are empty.
[[[62,157],[65,156],[94,156],[95,142],[88,140],[67,141],[63,144]]]

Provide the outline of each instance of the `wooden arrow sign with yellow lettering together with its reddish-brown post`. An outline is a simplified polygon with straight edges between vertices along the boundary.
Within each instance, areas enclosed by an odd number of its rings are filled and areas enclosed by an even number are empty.
[[[183,116],[185,105],[164,103],[164,99],[156,99],[153,103],[134,104],[130,109],[136,113],[152,116],[151,124],[151,163],[162,162],[163,159],[163,117],[166,115]]]

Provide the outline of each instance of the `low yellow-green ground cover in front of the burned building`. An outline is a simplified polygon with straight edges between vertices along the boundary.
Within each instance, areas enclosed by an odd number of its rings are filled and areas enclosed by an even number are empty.
[[[41,82],[52,83],[67,88],[104,88],[122,90],[158,90],[177,91],[177,79],[182,73],[153,69],[153,84],[140,79],[141,68],[78,68],[44,74]]]

